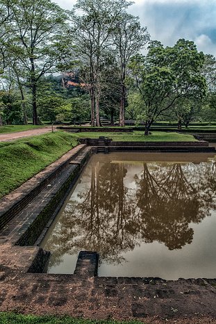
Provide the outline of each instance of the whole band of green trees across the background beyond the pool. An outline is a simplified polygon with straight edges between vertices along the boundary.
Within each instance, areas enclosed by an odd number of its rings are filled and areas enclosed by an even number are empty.
[[[151,41],[131,4],[2,0],[0,125],[126,119],[147,135],[156,120],[215,120],[215,58],[189,40]]]

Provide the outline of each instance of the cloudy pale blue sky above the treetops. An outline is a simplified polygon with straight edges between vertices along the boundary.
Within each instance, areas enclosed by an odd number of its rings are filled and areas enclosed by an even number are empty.
[[[71,9],[76,0],[54,0]],[[193,40],[199,51],[216,57],[216,0],[135,0],[128,13],[139,16],[151,40],[173,46],[179,38]]]

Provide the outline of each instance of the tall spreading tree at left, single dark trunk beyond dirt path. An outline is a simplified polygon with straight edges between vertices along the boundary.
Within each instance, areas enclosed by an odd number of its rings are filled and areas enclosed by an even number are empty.
[[[6,48],[23,69],[25,86],[32,94],[33,124],[38,124],[38,82],[44,74],[55,70],[66,15],[50,0],[12,0],[9,8],[12,19]]]

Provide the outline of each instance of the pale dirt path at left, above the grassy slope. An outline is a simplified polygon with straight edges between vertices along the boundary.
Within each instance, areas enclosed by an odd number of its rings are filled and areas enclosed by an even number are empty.
[[[56,127],[53,127],[54,131]],[[18,138],[37,136],[44,133],[49,133],[51,131],[51,126],[47,126],[39,129],[29,129],[28,131],[17,131],[14,133],[2,133],[0,134],[0,142],[8,142],[10,140],[17,140]]]

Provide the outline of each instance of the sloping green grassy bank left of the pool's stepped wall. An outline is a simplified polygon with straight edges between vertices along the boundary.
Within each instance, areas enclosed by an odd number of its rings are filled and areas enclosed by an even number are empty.
[[[76,136],[63,132],[0,143],[0,197],[13,191],[76,144]]]

